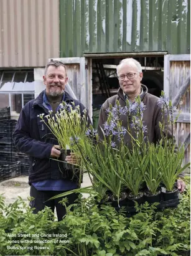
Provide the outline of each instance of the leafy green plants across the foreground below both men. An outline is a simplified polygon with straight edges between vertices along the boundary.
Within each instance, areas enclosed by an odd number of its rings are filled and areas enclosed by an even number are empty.
[[[70,207],[57,222],[49,209],[32,214],[21,198],[5,206],[1,196],[0,255],[190,255],[190,189],[177,209],[157,212],[146,202],[129,218],[93,197]]]

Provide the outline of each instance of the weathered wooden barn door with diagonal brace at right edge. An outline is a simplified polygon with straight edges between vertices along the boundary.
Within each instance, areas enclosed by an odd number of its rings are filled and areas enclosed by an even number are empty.
[[[165,55],[164,92],[181,111],[175,124],[177,143],[184,143],[184,163],[190,162],[190,55]]]

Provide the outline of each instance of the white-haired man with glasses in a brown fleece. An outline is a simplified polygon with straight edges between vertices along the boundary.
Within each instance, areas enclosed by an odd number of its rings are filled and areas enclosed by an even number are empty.
[[[123,59],[117,66],[117,75],[120,85],[117,95],[108,98],[100,110],[98,120],[98,134],[100,138],[103,139],[102,130],[108,117],[107,109],[109,108],[109,104],[111,103],[114,107],[116,100],[118,100],[121,107],[125,107],[127,99],[134,103],[137,95],[140,95],[142,103],[146,106],[142,120],[144,121],[144,125],[147,126],[147,138],[150,143],[157,143],[157,141],[161,140],[159,121],[162,122],[161,108],[157,105],[159,98],[148,93],[147,87],[141,84],[143,77],[141,64],[132,58]],[[120,118],[122,126],[127,127],[127,116],[121,115]],[[168,136],[171,135],[169,134]],[[131,138],[128,133],[124,135],[124,141],[131,148]],[[180,192],[183,192],[185,189],[184,181],[179,180],[177,185]]]

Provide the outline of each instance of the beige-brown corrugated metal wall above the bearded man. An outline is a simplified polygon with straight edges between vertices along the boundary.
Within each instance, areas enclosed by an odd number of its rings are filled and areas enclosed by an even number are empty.
[[[59,0],[0,0],[0,67],[59,57]]]

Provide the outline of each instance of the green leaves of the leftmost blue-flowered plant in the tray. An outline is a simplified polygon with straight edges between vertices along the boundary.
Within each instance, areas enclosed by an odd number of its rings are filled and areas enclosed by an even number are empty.
[[[123,175],[124,169],[120,169],[118,157],[118,150],[114,148],[114,143],[108,145],[107,141],[99,141],[96,136],[95,141],[91,141],[88,136],[95,133],[92,127],[86,131],[86,138],[81,138],[81,143],[76,143],[82,166],[85,168],[89,175],[93,177],[91,183],[100,196],[104,196],[103,191],[106,189],[111,192],[110,198],[116,201],[115,207],[119,206],[119,201],[125,199],[126,195],[123,192],[120,175]],[[83,149],[82,149],[83,148]],[[83,151],[86,154],[83,154]],[[118,170],[119,176],[116,175]],[[99,184],[100,187],[97,186]],[[103,190],[103,187],[106,188]]]

